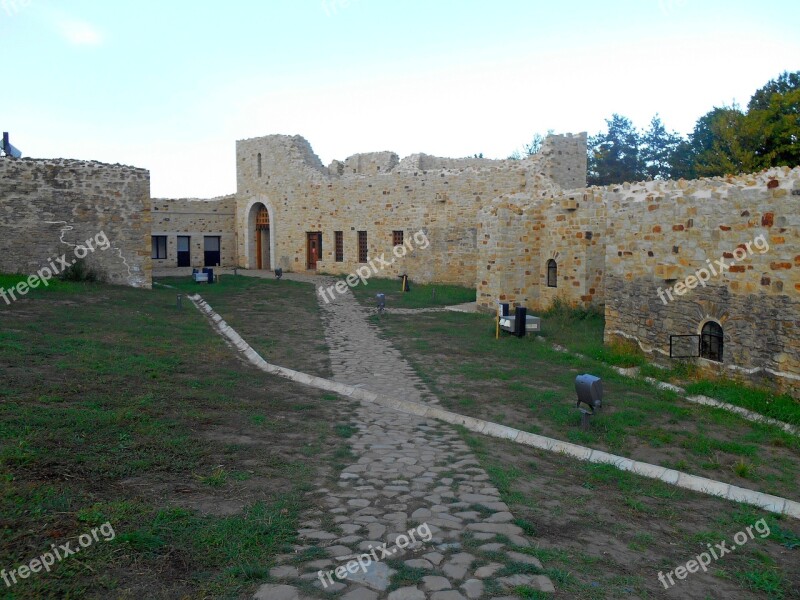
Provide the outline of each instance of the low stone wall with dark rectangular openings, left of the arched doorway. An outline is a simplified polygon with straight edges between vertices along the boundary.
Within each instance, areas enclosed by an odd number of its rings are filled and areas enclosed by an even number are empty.
[[[153,260],[154,267],[178,264],[178,236],[189,236],[191,266],[204,266],[204,238],[219,236],[223,267],[237,265],[236,196],[153,199],[153,235],[167,236],[167,258]]]

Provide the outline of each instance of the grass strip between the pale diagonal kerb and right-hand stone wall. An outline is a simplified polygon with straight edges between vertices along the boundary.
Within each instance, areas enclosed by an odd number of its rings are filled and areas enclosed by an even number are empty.
[[[557,307],[545,317],[547,338],[495,339],[491,316],[428,313],[373,317],[448,408],[556,439],[669,466],[767,493],[796,497],[800,438],[694,405],[674,392],[616,373],[602,317]],[[567,340],[567,343],[564,343]],[[580,341],[580,343],[578,343]],[[573,345],[582,356],[553,349]],[[574,342],[574,343],[573,343]],[[612,361],[613,362],[613,361]],[[603,409],[580,427],[575,377],[603,380]]]

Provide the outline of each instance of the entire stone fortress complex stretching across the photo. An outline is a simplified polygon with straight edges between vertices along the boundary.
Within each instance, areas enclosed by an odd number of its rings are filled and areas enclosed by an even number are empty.
[[[151,200],[140,169],[2,158],[0,271],[98,228],[115,251],[93,259],[129,285],[153,266],[370,264],[474,286],[486,312],[596,307],[608,342],[800,390],[800,167],[586,187],[585,134],[523,160],[374,152],[327,167],[302,137],[270,135],[237,142],[236,165],[236,194]]]

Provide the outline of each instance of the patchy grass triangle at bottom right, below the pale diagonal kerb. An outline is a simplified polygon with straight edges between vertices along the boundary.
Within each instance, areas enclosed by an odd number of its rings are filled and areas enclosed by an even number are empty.
[[[534,546],[518,552],[539,558],[544,570],[511,563],[504,574],[550,576],[556,598],[769,599],[800,598],[800,524],[747,506],[681,490],[659,481],[537,451],[462,430],[464,439]],[[473,510],[480,510],[480,506]],[[763,522],[760,520],[764,519]],[[766,525],[766,528],[764,527]],[[703,552],[751,527],[753,537],[712,560],[708,571],[673,575]],[[766,531],[769,535],[766,535]],[[762,532],[764,535],[762,537]],[[481,562],[483,542],[467,540]],[[545,596],[529,588],[520,598]]]

